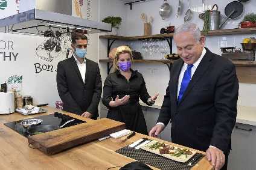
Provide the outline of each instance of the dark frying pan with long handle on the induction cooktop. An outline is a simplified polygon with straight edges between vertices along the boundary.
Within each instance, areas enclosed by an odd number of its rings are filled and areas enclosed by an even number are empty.
[[[53,130],[57,130],[57,129],[61,129],[62,127],[64,127],[66,124],[74,121],[75,119],[66,121],[64,124],[62,124],[62,126],[54,126],[54,125],[39,125],[39,126],[31,126],[27,129],[27,133],[30,135],[37,135],[39,133],[45,133],[45,132],[50,132]]]

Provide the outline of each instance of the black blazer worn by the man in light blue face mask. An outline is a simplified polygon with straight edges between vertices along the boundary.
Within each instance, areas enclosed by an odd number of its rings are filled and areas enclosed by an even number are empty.
[[[63,102],[63,111],[82,115],[88,111],[98,117],[102,83],[97,62],[86,58],[85,83],[74,56],[60,61],[57,67],[57,88]]]

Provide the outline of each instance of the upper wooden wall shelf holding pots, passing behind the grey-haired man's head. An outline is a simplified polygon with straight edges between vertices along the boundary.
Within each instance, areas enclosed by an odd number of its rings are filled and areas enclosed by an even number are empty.
[[[206,36],[213,35],[234,35],[234,34],[254,34],[256,33],[256,28],[235,28],[235,29],[219,29],[210,31]],[[149,39],[149,38],[171,38],[171,34],[155,34],[155,35],[146,35],[146,36],[134,36],[134,37],[124,37],[117,35],[100,35],[101,39],[115,39],[115,40],[139,40],[139,39]]]

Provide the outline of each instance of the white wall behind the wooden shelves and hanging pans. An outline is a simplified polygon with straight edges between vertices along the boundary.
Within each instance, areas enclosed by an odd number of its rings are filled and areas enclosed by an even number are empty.
[[[161,28],[171,25],[181,25],[184,23],[184,15],[185,11],[188,9],[188,1],[183,0],[184,7],[181,16],[176,18],[176,13],[178,9],[178,1],[168,1],[172,7],[171,16],[168,19],[162,20],[161,16],[159,16],[159,7],[163,3],[162,0],[152,0],[145,2],[138,2],[132,5],[132,10],[130,10],[129,5],[124,5],[124,2],[118,0],[101,0],[100,1],[100,17],[106,17],[109,14],[115,16],[123,16],[123,22],[121,24],[121,30],[119,35],[127,35],[127,36],[135,36],[135,35],[143,35],[143,25],[140,19],[141,13],[147,14],[147,16],[152,16],[154,18],[152,24],[152,34],[159,34]],[[190,22],[197,23],[199,28],[203,27],[203,20],[199,19],[198,15],[200,11],[202,11],[202,1],[201,0],[193,0],[191,1],[191,7],[193,9],[193,18]],[[219,5],[219,11],[225,16],[224,10],[226,5],[232,2],[232,0],[221,1],[221,0],[207,0],[205,1],[207,6],[212,7],[213,4]],[[102,4],[102,5],[101,5]],[[255,12],[256,1],[248,1],[243,3],[245,10],[242,16],[239,19],[229,19],[228,22],[223,25],[223,28],[237,28],[238,23],[243,19],[245,14],[250,12]],[[199,11],[199,12],[197,12]],[[226,37],[227,46],[236,46],[242,48],[240,43],[242,43],[243,38],[245,37],[256,37],[256,34],[243,34],[243,35],[223,35]],[[212,50],[214,53],[221,54],[220,52],[220,41],[222,41],[223,36],[213,36],[206,38],[206,47]],[[100,53],[99,57],[101,59],[106,59],[106,40],[100,40]],[[124,44],[130,44],[126,42]],[[141,46],[141,41],[133,41],[132,47],[133,49],[139,49]],[[173,52],[176,52],[176,46],[173,42]],[[160,59],[163,56],[144,56],[146,59]],[[101,65],[101,74],[106,77],[106,64]],[[168,68],[164,64],[133,64],[133,68],[139,70],[146,80],[147,88],[151,95],[155,92],[158,92],[159,99],[156,101],[156,105],[161,105],[162,99],[164,98],[165,88],[168,85],[169,73]],[[217,69],[217,68],[216,68]],[[105,71],[105,72],[104,72]],[[157,81],[156,81],[157,80]],[[160,87],[160,88],[159,88]],[[256,96],[256,85],[248,84],[248,83],[240,83],[239,97],[238,97],[238,105],[245,106],[256,106],[256,100],[254,99]]]

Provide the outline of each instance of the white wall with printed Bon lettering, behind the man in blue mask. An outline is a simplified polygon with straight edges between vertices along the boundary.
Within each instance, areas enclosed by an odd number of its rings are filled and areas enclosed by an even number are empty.
[[[14,4],[14,1],[7,2],[8,8],[0,10],[1,17],[17,13],[16,5],[18,4]],[[97,0],[83,0],[82,17],[98,20],[97,7]],[[0,33],[0,83],[7,81],[9,77],[14,75],[23,76],[22,83],[8,84],[8,89],[13,85],[18,87],[23,96],[32,96],[36,105],[49,103],[50,106],[55,106],[56,101],[60,100],[56,86],[57,63],[66,58],[66,49],[70,47],[71,42],[63,34],[60,40],[62,50],[60,52],[55,52],[55,50],[48,52],[43,49],[43,44],[50,39],[33,35]],[[11,61],[7,57],[10,53]],[[53,61],[46,61],[49,59],[49,55],[53,57]],[[14,56],[16,56],[16,60],[14,60]],[[71,56],[71,52],[69,56]],[[98,61],[98,34],[89,35],[87,57]],[[46,70],[43,70],[42,67]]]

